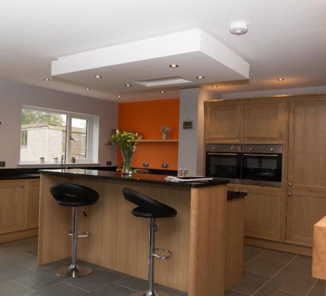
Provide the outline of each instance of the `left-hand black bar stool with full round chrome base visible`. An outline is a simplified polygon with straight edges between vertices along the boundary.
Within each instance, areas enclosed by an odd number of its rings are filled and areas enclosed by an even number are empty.
[[[78,278],[88,275],[92,272],[90,267],[76,264],[77,239],[91,235],[88,231],[78,231],[77,207],[94,204],[98,200],[99,194],[91,188],[76,184],[56,184],[51,186],[50,192],[60,206],[73,207],[73,231],[68,233],[73,240],[71,265],[58,268],[56,274],[65,278]],[[87,214],[83,209],[82,212],[86,217]]]

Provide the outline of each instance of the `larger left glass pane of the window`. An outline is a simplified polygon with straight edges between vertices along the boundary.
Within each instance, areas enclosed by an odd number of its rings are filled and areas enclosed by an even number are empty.
[[[66,150],[67,115],[22,109],[21,162],[60,162]]]

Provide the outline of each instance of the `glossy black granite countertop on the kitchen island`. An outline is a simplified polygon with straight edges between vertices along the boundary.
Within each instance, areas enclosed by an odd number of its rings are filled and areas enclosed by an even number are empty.
[[[165,181],[166,175],[154,175],[154,174],[135,174],[130,177],[122,176],[121,172],[110,172],[102,170],[89,170],[89,169],[67,169],[65,171],[59,170],[40,170],[41,174],[56,175],[56,176],[68,176],[68,177],[81,177],[81,178],[94,178],[94,179],[106,179],[114,181],[125,181],[135,183],[147,183],[157,185],[170,185],[180,187],[206,187],[228,184],[229,181],[213,178],[212,181],[203,182],[169,182]]]

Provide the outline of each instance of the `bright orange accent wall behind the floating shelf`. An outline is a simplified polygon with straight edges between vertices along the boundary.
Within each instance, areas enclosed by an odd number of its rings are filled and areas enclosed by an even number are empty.
[[[120,131],[136,131],[143,134],[143,139],[162,139],[160,126],[170,125],[172,131],[167,139],[179,136],[179,99],[120,103],[118,128]],[[142,168],[143,162],[149,162],[152,169],[161,169],[162,163],[168,163],[168,169],[178,166],[178,143],[139,142],[132,157],[132,166]],[[122,163],[118,151],[118,165]]]

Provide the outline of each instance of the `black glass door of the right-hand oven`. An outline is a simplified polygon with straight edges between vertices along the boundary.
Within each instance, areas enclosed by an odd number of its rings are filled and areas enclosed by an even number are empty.
[[[281,182],[282,154],[243,153],[241,178]]]

